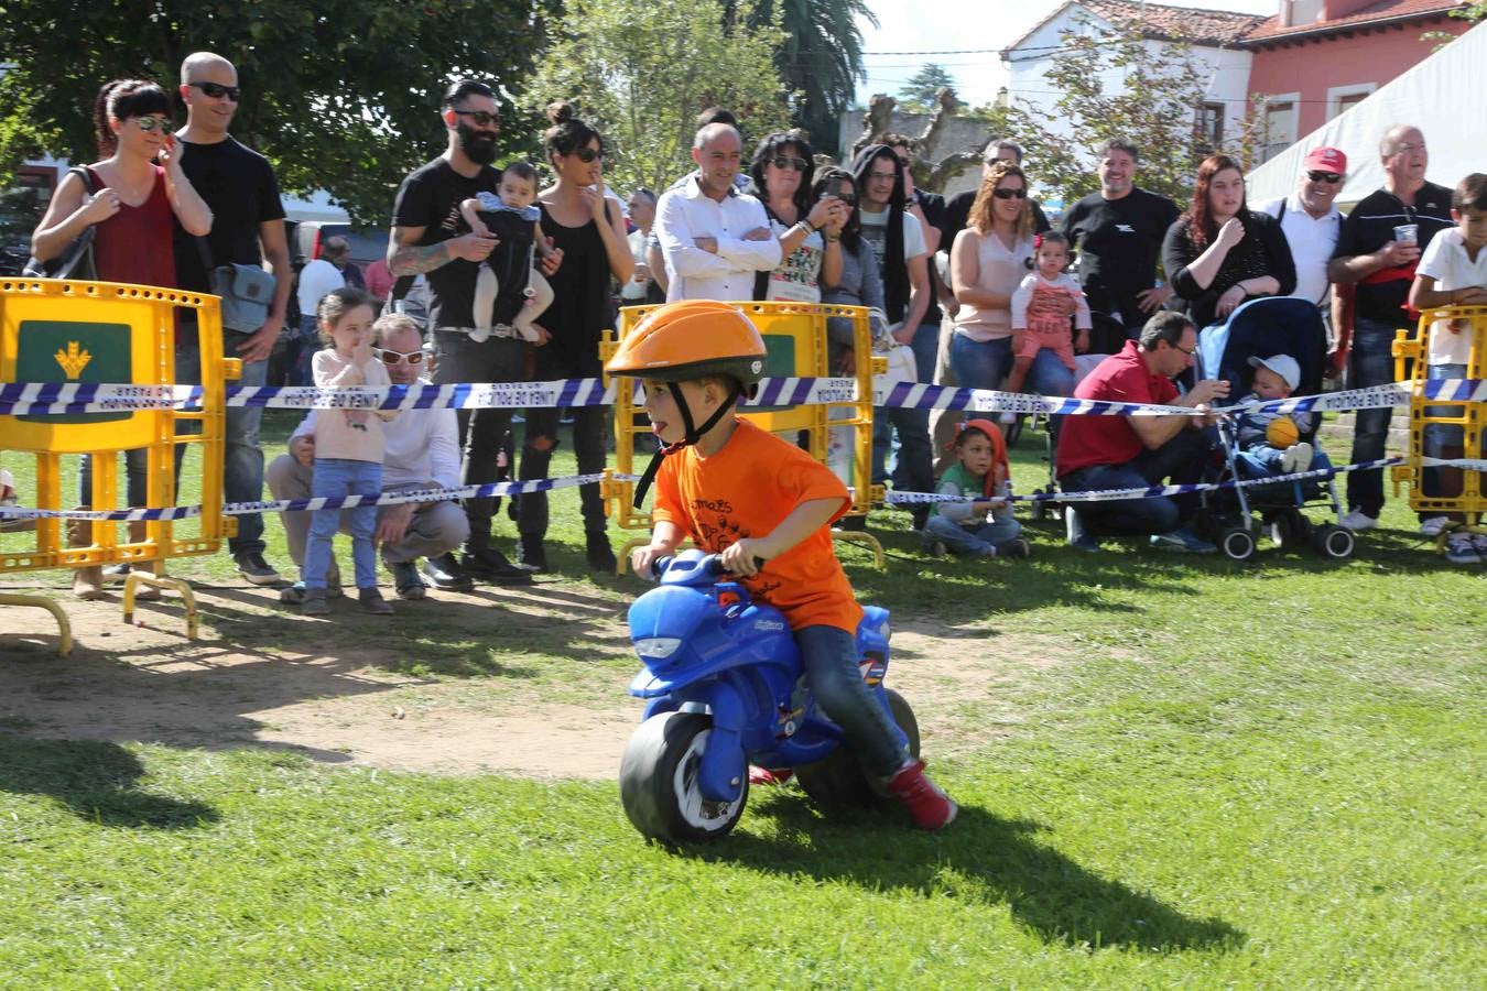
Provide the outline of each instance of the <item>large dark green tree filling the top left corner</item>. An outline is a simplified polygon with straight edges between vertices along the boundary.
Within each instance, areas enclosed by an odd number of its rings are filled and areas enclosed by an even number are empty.
[[[95,157],[92,101],[117,77],[174,91],[207,49],[242,85],[233,134],[294,193],[324,189],[358,223],[387,223],[401,177],[443,146],[436,111],[457,77],[525,79],[556,0],[0,0],[0,181],[40,150]],[[507,143],[520,129],[507,131]]]

